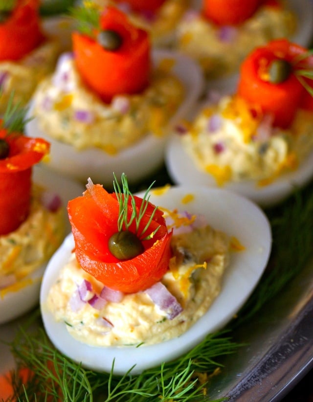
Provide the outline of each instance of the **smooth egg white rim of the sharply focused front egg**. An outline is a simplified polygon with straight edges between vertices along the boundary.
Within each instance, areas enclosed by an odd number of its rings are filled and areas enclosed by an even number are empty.
[[[183,202],[183,198],[189,194],[193,194],[194,199],[188,203]],[[220,295],[207,313],[183,335],[151,346],[92,347],[69,335],[66,324],[57,322],[46,306],[49,289],[67,263],[74,246],[73,237],[69,235],[45,271],[41,288],[41,310],[46,333],[56,348],[71,359],[82,362],[84,367],[110,372],[115,359],[115,374],[123,375],[134,365],[132,373],[138,374],[163,361],[179,357],[201,342],[205,335],[223,327],[234,316],[245,303],[267,265],[271,248],[270,226],[262,210],[251,201],[226,190],[200,186],[171,187],[161,195],[151,192],[150,201],[169,209],[201,213],[213,228],[235,236],[246,248],[244,251],[231,253]]]

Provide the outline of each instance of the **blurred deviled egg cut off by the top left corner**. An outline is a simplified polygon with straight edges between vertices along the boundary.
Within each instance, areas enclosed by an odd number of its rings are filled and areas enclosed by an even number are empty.
[[[14,92],[14,102],[27,103],[37,84],[55,67],[61,52],[39,15],[38,0],[0,4],[0,112]]]

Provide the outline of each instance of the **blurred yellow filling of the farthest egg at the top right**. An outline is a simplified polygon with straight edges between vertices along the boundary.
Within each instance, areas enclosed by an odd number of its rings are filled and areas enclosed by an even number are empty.
[[[240,63],[256,46],[264,45],[275,38],[290,38],[298,22],[286,8],[261,6],[240,26],[220,28],[201,16],[183,18],[177,27],[179,50],[196,59],[208,78],[219,78],[238,71]],[[221,30],[232,29],[226,33]]]

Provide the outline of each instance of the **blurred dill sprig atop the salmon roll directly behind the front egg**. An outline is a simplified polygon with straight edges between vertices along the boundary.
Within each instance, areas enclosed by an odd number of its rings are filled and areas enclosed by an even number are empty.
[[[100,29],[101,7],[93,1],[83,1],[83,6],[70,9],[70,15],[77,24],[77,29],[90,38]]]

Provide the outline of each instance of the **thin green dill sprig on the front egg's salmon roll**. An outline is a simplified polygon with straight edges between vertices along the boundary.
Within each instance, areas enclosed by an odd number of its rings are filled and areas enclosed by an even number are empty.
[[[140,222],[141,222],[142,218],[144,217],[144,215],[147,211],[148,205],[149,205],[149,199],[150,199],[149,191],[151,190],[155,181],[153,181],[150,184],[150,186],[148,187],[148,189],[146,190],[146,192],[143,196],[139,211],[137,212],[136,201],[134,199],[132,192],[129,189],[129,185],[128,185],[128,181],[127,181],[127,177],[126,177],[125,173],[122,173],[122,175],[121,175],[122,189],[121,189],[114,173],[113,173],[113,176],[114,176],[113,188],[114,188],[114,192],[116,194],[116,199],[119,203],[119,215],[118,215],[118,221],[117,221],[118,231],[128,230],[129,227],[131,226],[131,224],[135,221],[136,235],[138,236],[138,238],[141,240],[152,239],[155,236],[155,234],[160,226],[158,226],[152,233],[150,233],[146,237],[142,238],[142,236],[148,230],[148,228],[156,214],[157,206],[154,208],[154,210],[149,218],[149,221],[147,222],[145,227],[142,229],[142,231],[140,233],[138,233],[138,230],[139,230]],[[129,200],[131,200],[132,215],[128,220]]]

